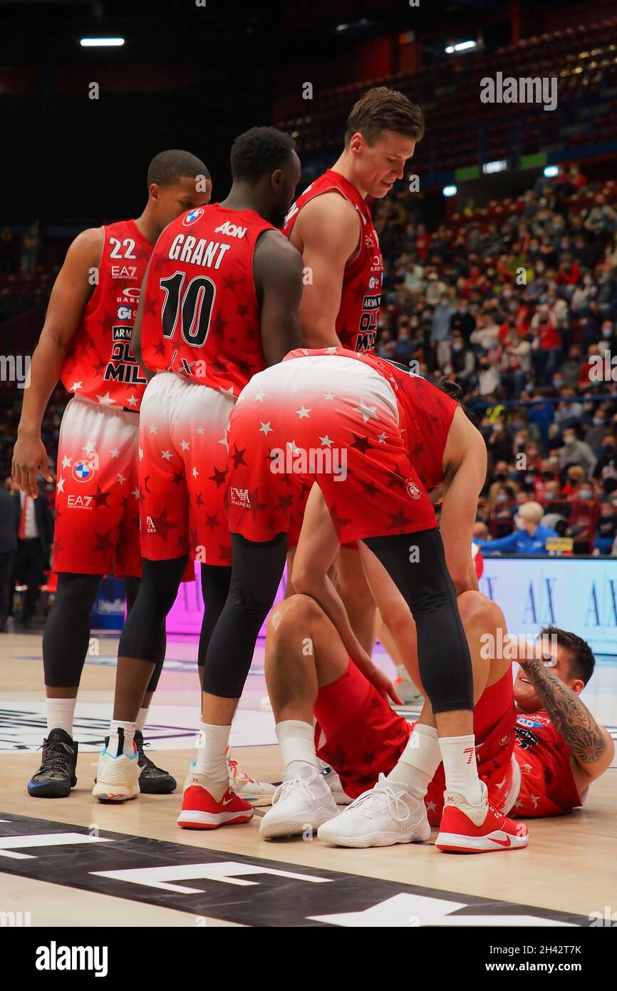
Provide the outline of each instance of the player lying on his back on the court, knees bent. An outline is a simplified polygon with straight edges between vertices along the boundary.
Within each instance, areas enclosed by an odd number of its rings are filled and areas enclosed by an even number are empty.
[[[383,586],[374,584],[375,571],[371,578],[373,591],[379,589],[377,605],[396,641],[406,644],[404,660],[419,684],[409,610],[405,616],[399,608],[395,588],[395,595],[387,587],[384,595]],[[614,754],[607,730],[578,698],[593,671],[588,645],[572,633],[547,628],[542,656],[528,644],[519,645],[521,666],[513,685],[511,659],[488,656],[486,650],[489,635],[492,643],[500,642],[499,629],[501,638],[506,635],[499,606],[480,593],[465,592],[459,608],[473,666],[478,773],[489,801],[517,818],[560,815],[582,805],[590,783]],[[313,827],[319,838],[344,846],[428,839],[444,807],[439,753],[435,766],[427,761],[424,769],[401,757],[409,752],[410,738],[430,731],[430,704],[413,725],[394,713],[383,685],[371,685],[360,673],[323,609],[304,595],[272,609],[265,672],[285,772],[261,821],[261,835],[301,834]],[[331,764],[355,799],[341,814],[319,773],[318,756]],[[424,799],[421,822],[415,799]],[[465,837],[468,851],[489,843],[492,848],[515,845],[505,836]]]

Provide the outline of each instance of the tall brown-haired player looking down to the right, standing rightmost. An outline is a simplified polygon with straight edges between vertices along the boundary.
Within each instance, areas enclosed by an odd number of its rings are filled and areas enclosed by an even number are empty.
[[[405,163],[423,134],[418,106],[386,86],[369,89],[349,116],[342,154],[289,211],[283,231],[301,252],[310,276],[300,303],[306,347],[335,345],[373,353],[383,263],[366,197],[383,198],[403,177]],[[290,545],[296,539],[297,532],[292,533]],[[292,567],[291,552],[289,572]],[[336,569],[352,626],[369,652],[375,607],[354,547],[341,549]],[[288,594],[291,591],[289,586]]]

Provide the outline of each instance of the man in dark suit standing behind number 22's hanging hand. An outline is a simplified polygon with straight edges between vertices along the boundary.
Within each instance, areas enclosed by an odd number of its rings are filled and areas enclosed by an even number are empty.
[[[16,571],[20,585],[27,586],[22,606],[22,625],[28,629],[39,600],[43,572],[50,567],[53,519],[45,495],[31,498],[21,492],[14,482],[12,489],[19,512]]]

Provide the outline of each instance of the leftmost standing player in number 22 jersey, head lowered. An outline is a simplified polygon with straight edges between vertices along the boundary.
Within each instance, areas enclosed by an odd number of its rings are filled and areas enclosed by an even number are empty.
[[[189,207],[205,205],[210,189],[199,159],[188,152],[161,152],[148,170],[142,215],[83,231],[51,290],[13,454],[13,478],[35,497],[38,473],[51,481],[41,422],[61,379],[73,396],[60,426],[53,546],[57,593],[43,636],[48,737],[41,767],[28,785],[38,798],[64,798],[76,784],[73,714],[101,578],[114,570],[126,577],[130,609],[142,571],[137,449],[146,379],[132,352],[140,286],[162,229]],[[164,638],[157,644],[158,669],[163,654]],[[141,702],[145,711],[156,679]],[[142,742],[140,736],[140,747]],[[156,772],[142,752],[138,757],[144,790],[173,790],[170,775]]]

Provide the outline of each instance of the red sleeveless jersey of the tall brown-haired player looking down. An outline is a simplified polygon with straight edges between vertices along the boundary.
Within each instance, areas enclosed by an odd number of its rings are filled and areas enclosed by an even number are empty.
[[[372,354],[381,302],[383,261],[368,206],[356,186],[340,172],[327,168],[323,175],[311,182],[298,196],[285,217],[283,234],[289,237],[302,207],[326,192],[344,196],[356,209],[360,220],[358,255],[345,267],[336,331],[344,348]],[[324,232],[325,237],[332,235],[332,231]]]

